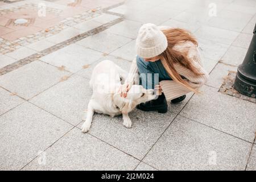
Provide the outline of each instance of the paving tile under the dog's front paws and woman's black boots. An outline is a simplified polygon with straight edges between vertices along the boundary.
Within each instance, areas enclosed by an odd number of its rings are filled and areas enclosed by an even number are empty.
[[[129,113],[133,125],[127,129],[122,125],[122,116],[111,118],[108,115],[95,114],[89,133],[114,147],[142,159],[152,144],[170,125],[176,114],[159,114],[135,109]],[[81,128],[82,122],[79,127]]]

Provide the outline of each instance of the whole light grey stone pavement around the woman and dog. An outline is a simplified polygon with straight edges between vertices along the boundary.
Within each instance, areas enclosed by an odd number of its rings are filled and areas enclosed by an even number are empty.
[[[218,92],[237,71],[254,0],[0,1],[0,169],[255,170],[256,104]],[[95,114],[80,127],[99,61],[129,70],[143,23],[199,41],[210,80],[166,114]]]

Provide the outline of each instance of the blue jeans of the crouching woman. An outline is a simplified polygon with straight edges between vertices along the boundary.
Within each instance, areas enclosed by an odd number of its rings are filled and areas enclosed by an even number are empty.
[[[159,81],[172,80],[166,72],[160,60],[146,62],[142,57],[137,56],[137,67],[139,70],[139,84],[145,89],[154,89]]]

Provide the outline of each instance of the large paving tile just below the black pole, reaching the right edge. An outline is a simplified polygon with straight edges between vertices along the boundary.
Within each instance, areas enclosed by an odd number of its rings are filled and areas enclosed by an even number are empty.
[[[227,96],[209,86],[203,86],[201,91],[203,94],[193,96],[180,115],[253,142],[256,129],[255,104]]]

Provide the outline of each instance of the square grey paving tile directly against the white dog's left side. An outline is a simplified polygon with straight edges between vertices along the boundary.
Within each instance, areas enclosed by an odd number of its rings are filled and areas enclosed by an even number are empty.
[[[89,80],[72,76],[32,98],[31,102],[64,121],[77,125],[84,118],[91,96]]]

